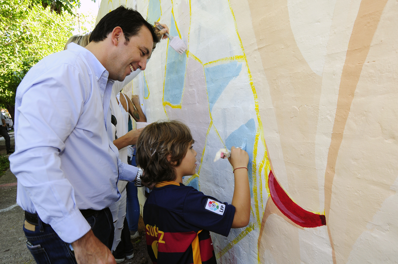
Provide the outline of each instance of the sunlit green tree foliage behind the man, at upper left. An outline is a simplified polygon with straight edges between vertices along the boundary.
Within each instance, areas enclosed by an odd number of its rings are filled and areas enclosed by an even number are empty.
[[[13,120],[19,83],[39,60],[64,48],[78,28],[72,14],[77,5],[71,0],[0,0],[0,107]]]

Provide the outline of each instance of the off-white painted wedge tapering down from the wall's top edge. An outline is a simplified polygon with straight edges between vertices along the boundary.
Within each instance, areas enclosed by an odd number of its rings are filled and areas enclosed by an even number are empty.
[[[288,0],[290,26],[313,72],[322,75],[336,0]]]

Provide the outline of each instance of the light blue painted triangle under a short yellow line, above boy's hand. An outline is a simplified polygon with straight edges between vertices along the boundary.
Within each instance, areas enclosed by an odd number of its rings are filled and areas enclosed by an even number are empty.
[[[207,95],[209,96],[210,111],[220,98],[222,91],[228,83],[239,76],[242,70],[242,63],[232,61],[205,68]],[[239,145],[240,146],[240,145]]]

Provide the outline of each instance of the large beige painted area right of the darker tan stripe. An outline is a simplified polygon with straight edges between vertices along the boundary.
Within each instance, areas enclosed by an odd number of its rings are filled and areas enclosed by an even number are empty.
[[[369,12],[374,10],[377,7],[369,7]],[[336,160],[328,219],[336,263],[347,262],[354,244],[355,250],[367,247],[365,242],[356,243],[358,237],[368,230],[382,203],[395,194],[391,185],[398,171],[397,12],[394,0],[383,10],[356,86]],[[370,15],[364,14],[363,19]],[[393,235],[391,232],[387,237]],[[388,243],[388,239],[384,241]],[[374,253],[373,257],[378,255]],[[369,263],[378,261],[375,258]]]

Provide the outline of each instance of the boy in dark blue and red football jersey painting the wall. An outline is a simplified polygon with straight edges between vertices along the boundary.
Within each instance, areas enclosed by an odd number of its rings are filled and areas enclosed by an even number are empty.
[[[182,177],[195,174],[193,143],[189,128],[178,121],[152,123],[137,140],[142,181],[155,183],[143,212],[153,263],[216,264],[209,231],[228,236],[231,228],[249,223],[248,153],[231,148],[235,187],[227,204],[182,183]]]

